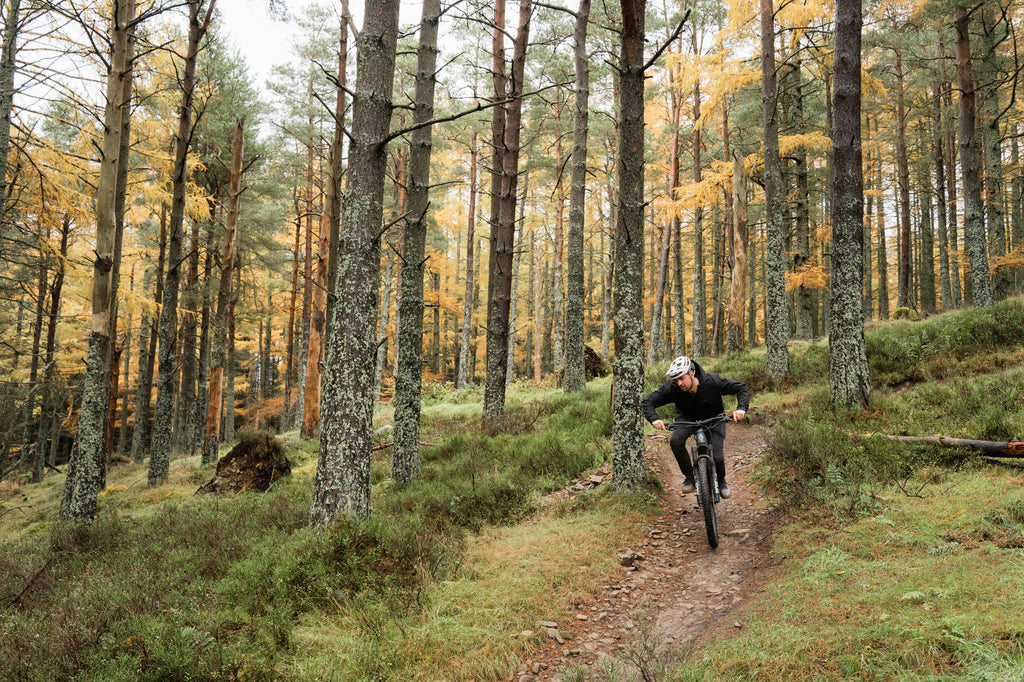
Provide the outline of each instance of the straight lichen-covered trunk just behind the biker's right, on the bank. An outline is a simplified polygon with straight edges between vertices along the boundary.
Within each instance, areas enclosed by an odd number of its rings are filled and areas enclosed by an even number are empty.
[[[790,297],[785,293],[785,239],[782,235],[782,169],[778,157],[778,91],[772,0],[761,0],[761,85],[765,156],[765,345],[766,370],[780,379],[790,373]],[[696,351],[694,350],[694,354]]]

